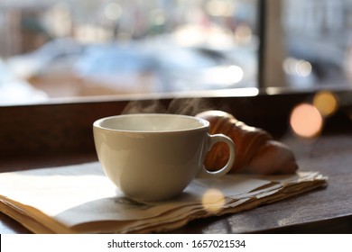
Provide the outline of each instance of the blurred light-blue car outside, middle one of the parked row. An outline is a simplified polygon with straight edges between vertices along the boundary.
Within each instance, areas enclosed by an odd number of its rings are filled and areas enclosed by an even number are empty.
[[[134,45],[91,46],[74,72],[83,95],[154,93],[160,85],[153,58]]]

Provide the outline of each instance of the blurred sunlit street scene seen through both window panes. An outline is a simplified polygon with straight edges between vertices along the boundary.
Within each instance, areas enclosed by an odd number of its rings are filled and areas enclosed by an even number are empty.
[[[350,85],[352,0],[265,2],[280,4],[283,57],[276,71],[284,87]],[[0,104],[260,87],[261,6],[259,0],[2,0]]]

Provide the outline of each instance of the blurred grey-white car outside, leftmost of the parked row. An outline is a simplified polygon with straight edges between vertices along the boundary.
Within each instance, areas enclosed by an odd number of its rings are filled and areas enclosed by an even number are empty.
[[[51,97],[76,96],[73,66],[86,45],[72,39],[51,40],[32,52],[7,60],[17,76]]]

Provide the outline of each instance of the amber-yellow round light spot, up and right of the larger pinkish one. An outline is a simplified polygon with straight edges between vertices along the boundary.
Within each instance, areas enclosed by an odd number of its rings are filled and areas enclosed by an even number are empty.
[[[322,116],[330,116],[338,110],[338,99],[332,92],[320,91],[314,95],[313,105]]]

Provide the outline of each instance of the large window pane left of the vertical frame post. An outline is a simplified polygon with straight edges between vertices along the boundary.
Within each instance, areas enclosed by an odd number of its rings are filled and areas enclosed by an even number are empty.
[[[256,0],[1,1],[0,66],[48,99],[255,87],[257,34]]]

